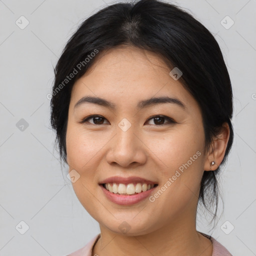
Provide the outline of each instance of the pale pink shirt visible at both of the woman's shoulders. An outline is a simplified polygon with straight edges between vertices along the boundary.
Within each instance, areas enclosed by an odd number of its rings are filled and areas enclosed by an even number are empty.
[[[215,240],[212,236],[204,234],[200,232],[202,235],[209,238],[212,242],[212,256],[232,256],[230,252],[221,245],[217,240]],[[84,247],[72,252],[71,254],[68,254],[67,256],[91,256],[92,253],[92,247],[100,237],[100,234],[97,234],[94,236]]]

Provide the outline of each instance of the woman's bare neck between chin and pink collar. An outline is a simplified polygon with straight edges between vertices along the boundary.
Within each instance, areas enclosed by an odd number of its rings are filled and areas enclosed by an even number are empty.
[[[184,218],[181,214],[171,224],[143,235],[119,234],[100,225],[100,238],[93,248],[92,255],[94,254],[211,256],[212,243],[196,231],[194,217]]]

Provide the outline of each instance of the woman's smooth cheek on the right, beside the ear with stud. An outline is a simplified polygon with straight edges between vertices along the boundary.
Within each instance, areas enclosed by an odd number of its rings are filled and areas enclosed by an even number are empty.
[[[195,199],[198,193],[203,173],[203,130],[192,129],[187,125],[175,132],[172,130],[165,133],[157,141],[150,141],[149,147],[153,148],[153,155],[160,159],[158,162],[162,166],[159,171],[161,186],[165,184],[165,187],[168,187],[160,196],[161,199],[157,199],[158,206],[165,207],[167,212],[175,214],[191,199]],[[173,205],[176,205],[175,208]]]

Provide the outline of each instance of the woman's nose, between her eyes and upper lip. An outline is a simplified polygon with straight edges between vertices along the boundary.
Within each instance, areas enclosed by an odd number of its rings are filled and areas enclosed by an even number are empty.
[[[111,143],[108,144],[106,161],[111,165],[130,168],[144,164],[147,158],[146,146],[135,126],[131,125],[126,131],[116,126],[115,131]]]

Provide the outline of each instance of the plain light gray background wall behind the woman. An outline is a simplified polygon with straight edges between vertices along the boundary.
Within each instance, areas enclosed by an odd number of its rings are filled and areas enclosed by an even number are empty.
[[[211,234],[234,256],[256,255],[256,1],[171,2],[191,11],[215,34],[233,86],[234,142],[221,180],[224,213]],[[0,0],[2,256],[65,255],[100,231],[76,198],[66,177],[67,166],[62,175],[46,95],[53,66],[69,36],[84,18],[110,3],[113,1]],[[15,23],[25,24],[21,15],[29,21],[24,29]],[[226,15],[234,21],[228,29],[223,25],[229,26],[230,19],[221,24]],[[21,118],[28,127],[20,126],[24,124]],[[20,234],[25,228],[21,220],[29,226],[24,234]],[[234,229],[226,234],[231,225]],[[204,217],[198,218],[197,230],[209,232]]]

